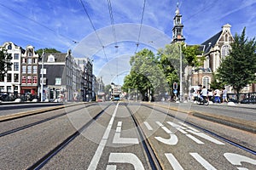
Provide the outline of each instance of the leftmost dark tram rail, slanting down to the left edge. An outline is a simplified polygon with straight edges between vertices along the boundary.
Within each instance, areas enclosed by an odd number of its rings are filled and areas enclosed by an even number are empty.
[[[72,105],[72,106],[76,106],[76,105]],[[90,106],[91,106],[91,105],[86,105],[85,107],[90,107]],[[38,121],[38,122],[32,122],[32,123],[30,123],[30,124],[26,124],[26,125],[21,126],[21,127],[16,127],[16,128],[14,128],[14,129],[8,130],[8,131],[6,131],[6,132],[0,133],[0,138],[3,137],[3,136],[9,135],[9,134],[11,134],[11,133],[19,132],[20,130],[24,130],[24,129],[26,129],[26,128],[36,126],[36,125],[41,124],[41,123],[43,123],[43,122],[48,122],[48,121],[53,120],[53,119],[55,119],[55,118],[58,118],[58,117],[61,117],[61,116],[65,116],[65,115],[70,114],[70,113],[72,113],[72,112],[74,112],[74,111],[79,111],[79,110],[82,110],[82,109],[84,109],[84,108],[79,108],[79,109],[70,111],[70,112],[68,112],[68,113],[65,112],[65,113],[61,113],[61,114],[55,115],[55,116],[50,116],[50,117],[48,117],[48,118],[46,118],[46,119],[43,119],[43,120],[41,120],[41,121]],[[47,111],[47,112],[48,112],[48,111]]]

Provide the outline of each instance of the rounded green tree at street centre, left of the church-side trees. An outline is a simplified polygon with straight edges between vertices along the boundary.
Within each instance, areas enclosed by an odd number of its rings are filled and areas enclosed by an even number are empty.
[[[158,63],[154,53],[146,48],[131,56],[131,72],[125,77],[123,90],[137,89],[143,100],[148,100],[148,94],[162,94],[166,81]]]

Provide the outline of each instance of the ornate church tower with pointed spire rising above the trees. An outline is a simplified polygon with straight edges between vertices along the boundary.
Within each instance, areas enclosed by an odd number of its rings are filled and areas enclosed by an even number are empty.
[[[185,38],[183,37],[183,24],[182,24],[182,15],[179,14],[179,8],[177,3],[177,9],[175,11],[175,17],[173,18],[173,28],[172,28],[172,43],[173,42],[184,42]]]

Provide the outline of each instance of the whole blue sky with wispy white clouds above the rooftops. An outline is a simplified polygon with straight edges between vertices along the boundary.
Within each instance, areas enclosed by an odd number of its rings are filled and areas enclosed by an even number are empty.
[[[247,37],[255,37],[255,0],[1,0],[0,44],[72,49],[93,60],[96,76],[118,77],[135,52],[172,41],[177,3],[188,44],[205,42],[225,24],[233,35],[246,26]]]

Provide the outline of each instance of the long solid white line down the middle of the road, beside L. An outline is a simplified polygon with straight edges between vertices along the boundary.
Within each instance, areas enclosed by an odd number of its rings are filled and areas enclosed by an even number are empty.
[[[117,112],[117,109],[119,107],[119,103],[115,106],[115,109],[113,111],[113,115],[108,123],[108,127],[103,135],[103,138],[102,138],[102,141],[101,143],[99,144],[92,160],[90,161],[90,166],[88,167],[89,170],[95,170],[101,157],[102,157],[102,152],[105,148],[105,145],[107,144],[107,140],[108,140],[108,136],[109,136],[109,133],[110,133],[110,130],[112,128],[112,125],[113,125],[113,120],[114,120],[114,117],[116,115],[116,112]]]

